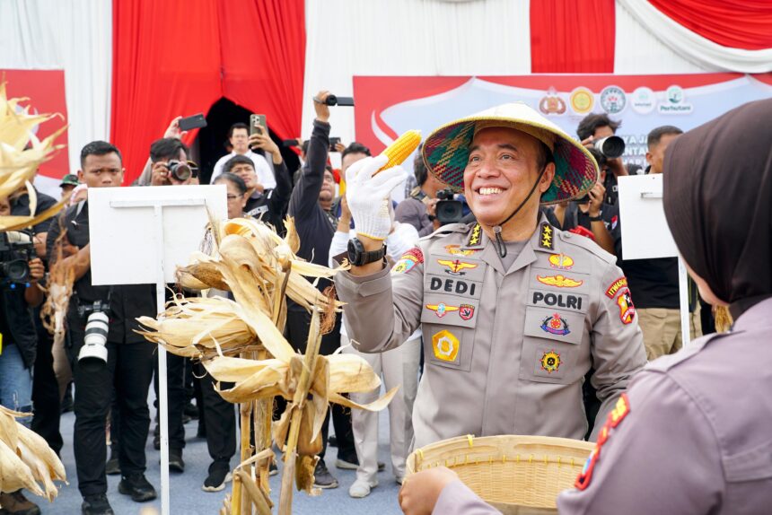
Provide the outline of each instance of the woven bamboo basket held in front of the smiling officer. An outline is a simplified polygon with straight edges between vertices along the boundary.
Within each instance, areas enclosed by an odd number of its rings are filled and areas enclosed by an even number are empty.
[[[449,467],[504,515],[557,513],[557,493],[574,485],[594,447],[548,436],[467,435],[415,450],[408,457],[407,478]]]

